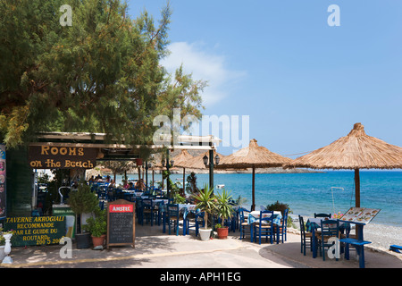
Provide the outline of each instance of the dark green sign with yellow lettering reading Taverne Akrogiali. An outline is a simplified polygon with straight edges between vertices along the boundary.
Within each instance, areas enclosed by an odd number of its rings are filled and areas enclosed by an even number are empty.
[[[65,235],[65,216],[7,217],[4,231],[12,231],[13,246],[59,244]]]

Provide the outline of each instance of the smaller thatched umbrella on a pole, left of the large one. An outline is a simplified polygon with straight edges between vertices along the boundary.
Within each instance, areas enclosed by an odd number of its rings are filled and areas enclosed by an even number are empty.
[[[241,148],[230,156],[225,156],[221,163],[216,166],[217,169],[252,168],[252,210],[255,210],[255,168],[281,167],[283,164],[289,164],[292,161],[288,157],[271,152],[266,147],[258,146],[256,142],[255,139],[251,139],[248,147]]]

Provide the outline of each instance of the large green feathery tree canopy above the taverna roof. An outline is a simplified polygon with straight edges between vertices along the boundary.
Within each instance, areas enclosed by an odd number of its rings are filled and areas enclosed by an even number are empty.
[[[71,5],[72,26],[59,9]],[[171,9],[130,19],[121,0],[0,2],[0,141],[18,147],[38,131],[103,132],[152,142],[155,115],[200,118],[205,81],[160,64]]]

